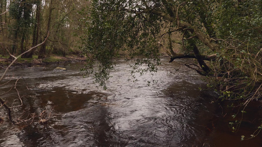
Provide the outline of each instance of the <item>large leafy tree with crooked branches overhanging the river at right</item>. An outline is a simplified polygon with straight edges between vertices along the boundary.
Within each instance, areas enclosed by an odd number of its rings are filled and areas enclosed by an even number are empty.
[[[82,49],[97,82],[105,86],[119,50],[137,65],[139,72],[155,72],[160,48],[165,39],[170,62],[194,58],[185,64],[202,75],[212,77],[221,91],[235,91],[257,98],[262,86],[261,38],[262,2],[259,0],[92,0],[83,19],[87,34]],[[181,35],[180,42],[172,34]],[[170,37],[168,37],[170,36]],[[175,43],[173,43],[175,41]],[[174,46],[181,47],[176,53]],[[220,78],[221,77],[221,78]],[[220,79],[220,80],[218,80]],[[223,80],[221,80],[223,79]],[[236,98],[244,99],[247,97]],[[251,96],[251,97],[250,97]]]

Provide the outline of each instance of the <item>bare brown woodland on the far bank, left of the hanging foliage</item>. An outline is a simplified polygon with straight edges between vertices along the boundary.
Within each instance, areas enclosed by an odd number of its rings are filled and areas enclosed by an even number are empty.
[[[1,49],[9,59],[40,43],[22,58],[43,59],[50,53],[60,56],[80,54],[78,47],[79,12],[87,6],[87,0],[1,0]],[[49,35],[48,35],[49,33]]]

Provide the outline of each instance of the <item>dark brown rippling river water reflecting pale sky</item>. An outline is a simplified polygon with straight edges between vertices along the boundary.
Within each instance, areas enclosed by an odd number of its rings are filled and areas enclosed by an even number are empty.
[[[228,124],[234,110],[211,103],[214,92],[200,91],[203,76],[163,60],[158,73],[138,74],[134,81],[129,64],[118,61],[106,91],[80,74],[83,63],[14,68],[2,83],[22,75],[29,86],[18,82],[24,106],[15,111],[53,113],[47,125],[0,124],[0,147],[262,147],[261,135],[240,141],[260,123],[260,102],[233,133]],[[67,71],[54,72],[57,66]],[[1,93],[14,82],[1,86]],[[15,92],[1,97],[13,101]]]

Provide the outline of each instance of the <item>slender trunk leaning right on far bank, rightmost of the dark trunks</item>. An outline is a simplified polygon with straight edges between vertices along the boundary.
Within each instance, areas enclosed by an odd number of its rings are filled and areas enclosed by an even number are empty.
[[[47,27],[46,27],[46,36],[47,37],[49,30],[50,30],[50,24],[51,24],[51,13],[52,13],[52,4],[53,4],[53,0],[50,1],[50,6],[49,6],[49,15],[48,15],[48,22],[47,22]],[[42,44],[39,54],[38,54],[38,59],[43,59],[45,58],[45,53],[46,53],[46,46],[47,46],[47,41]]]

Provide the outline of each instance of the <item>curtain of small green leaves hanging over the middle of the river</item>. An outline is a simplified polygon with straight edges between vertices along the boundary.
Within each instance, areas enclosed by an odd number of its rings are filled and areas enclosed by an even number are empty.
[[[84,29],[87,36],[82,36],[83,50],[88,56],[87,68],[92,69],[87,73],[94,73],[101,86],[105,86],[110,77],[113,59],[119,56],[120,50],[128,52],[131,58],[146,58],[136,60],[134,70],[139,67],[137,65],[147,64],[144,71],[155,71],[155,65],[159,64],[156,38],[161,18],[153,14],[136,16],[130,9],[136,8],[133,4],[132,1],[93,0],[88,18],[82,21],[87,25]],[[84,11],[81,13],[86,14]],[[93,67],[95,62],[96,69]]]

